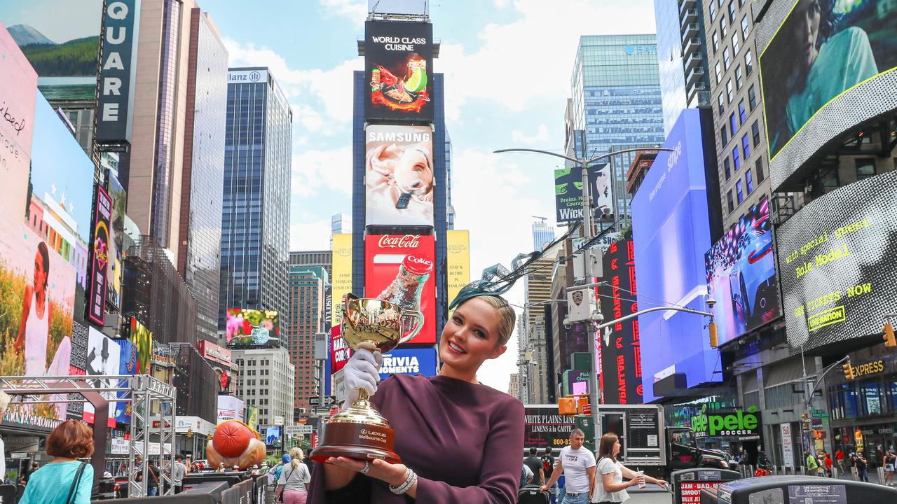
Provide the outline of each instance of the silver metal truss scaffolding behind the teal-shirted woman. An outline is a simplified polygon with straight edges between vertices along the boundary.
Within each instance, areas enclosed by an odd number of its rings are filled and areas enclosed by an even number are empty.
[[[116,385],[111,385],[116,384]],[[94,387],[99,385],[99,387]],[[57,403],[91,403],[96,411],[93,422],[93,438],[95,452],[91,456],[91,464],[94,469],[94,479],[103,474],[106,459],[106,433],[108,431],[105,421],[102,421],[109,412],[109,402],[131,403],[131,439],[128,442],[128,471],[127,490],[128,497],[145,497],[147,477],[149,474],[149,461],[155,459],[155,454],[150,454],[150,436],[158,434],[160,449],[158,454],[160,495],[173,495],[174,485],[171,480],[171,469],[174,464],[174,426],[175,426],[175,401],[177,391],[175,387],[162,382],[149,375],[122,375],[122,376],[76,376],[76,377],[0,377],[0,388],[6,394],[21,396],[20,401],[13,404],[57,404]],[[116,397],[119,392],[126,393],[127,397]],[[35,399],[34,396],[44,395],[81,395],[82,399],[50,400]],[[109,395],[113,395],[109,398]],[[152,404],[159,405],[160,424],[158,428],[152,426],[150,420]],[[99,441],[99,442],[98,442]],[[144,464],[135,467],[136,457],[140,456]],[[140,481],[137,481],[138,474]]]

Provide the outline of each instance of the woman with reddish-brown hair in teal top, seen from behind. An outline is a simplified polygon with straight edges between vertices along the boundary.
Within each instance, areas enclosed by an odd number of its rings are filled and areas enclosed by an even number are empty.
[[[19,504],[90,504],[93,467],[78,459],[92,454],[89,427],[74,420],[60,423],[47,439],[47,455],[55,458],[29,474]]]

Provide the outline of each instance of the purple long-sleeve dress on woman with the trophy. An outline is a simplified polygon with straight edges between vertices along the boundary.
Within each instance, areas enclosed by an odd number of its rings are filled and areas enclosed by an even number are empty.
[[[415,502],[517,502],[523,453],[517,399],[455,378],[395,375],[370,402],[396,430],[396,453],[418,475]],[[324,484],[324,471],[316,470],[309,504],[363,502],[367,495],[378,504],[406,501],[363,475],[342,491],[325,492]]]

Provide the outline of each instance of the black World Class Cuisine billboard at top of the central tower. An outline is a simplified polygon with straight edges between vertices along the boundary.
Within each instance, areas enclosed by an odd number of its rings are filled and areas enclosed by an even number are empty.
[[[364,23],[365,121],[433,122],[433,25]]]

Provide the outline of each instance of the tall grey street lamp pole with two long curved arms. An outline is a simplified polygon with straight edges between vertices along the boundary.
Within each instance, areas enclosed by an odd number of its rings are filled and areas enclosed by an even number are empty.
[[[584,134],[583,134],[584,135]],[[583,138],[583,149],[582,152],[586,152],[585,149],[585,138]],[[584,242],[588,244],[588,241],[592,239],[592,198],[591,198],[591,187],[588,185],[588,168],[595,164],[597,161],[605,160],[607,158],[612,158],[616,154],[624,154],[626,152],[639,152],[639,151],[666,151],[671,152],[673,149],[667,149],[665,147],[653,147],[653,148],[645,148],[645,147],[636,147],[633,149],[622,149],[620,151],[607,152],[606,154],[601,154],[599,156],[595,156],[589,159],[579,159],[572,158],[570,156],[565,156],[563,154],[558,154],[557,152],[548,152],[541,151],[538,149],[501,149],[495,151],[495,153],[500,152],[536,152],[539,154],[547,154],[549,156],[554,156],[557,158],[562,158],[564,160],[570,161],[575,165],[578,165],[582,174],[582,238]],[[591,248],[586,248],[584,251],[586,254],[585,260],[585,273],[586,273],[586,282],[592,282],[592,260],[591,260]],[[593,296],[595,291],[588,290]],[[593,300],[595,298],[593,297]],[[595,303],[598,310],[600,310],[600,306]],[[578,322],[573,320],[572,322]],[[598,390],[598,363],[597,363],[597,352],[595,351],[595,345],[597,343],[597,332],[593,332],[592,321],[585,321],[586,328],[586,341],[591,341],[592,343],[588,345],[588,354],[592,358],[592,369],[588,373],[588,403],[592,405],[592,421],[593,425],[596,426],[596,434],[597,434],[597,425],[598,425],[598,398],[600,397],[601,391]]]

